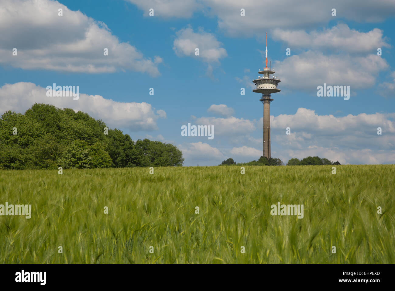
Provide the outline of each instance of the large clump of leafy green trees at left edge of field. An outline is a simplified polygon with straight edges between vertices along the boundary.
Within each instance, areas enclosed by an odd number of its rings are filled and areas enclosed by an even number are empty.
[[[107,128],[107,129],[105,129]],[[119,129],[71,108],[35,103],[0,118],[0,169],[182,166],[176,146],[134,142]]]

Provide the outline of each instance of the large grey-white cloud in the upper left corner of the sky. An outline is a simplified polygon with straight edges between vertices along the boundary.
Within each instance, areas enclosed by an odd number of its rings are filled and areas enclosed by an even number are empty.
[[[58,9],[63,16],[58,16]],[[12,49],[17,55],[12,55]],[[104,55],[104,49],[108,55]],[[103,73],[133,70],[158,76],[162,59],[120,42],[105,23],[58,1],[2,0],[0,63],[23,69]]]

